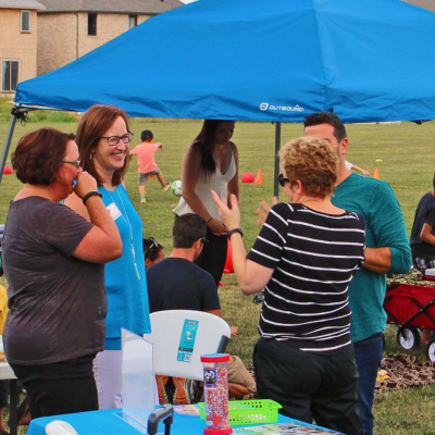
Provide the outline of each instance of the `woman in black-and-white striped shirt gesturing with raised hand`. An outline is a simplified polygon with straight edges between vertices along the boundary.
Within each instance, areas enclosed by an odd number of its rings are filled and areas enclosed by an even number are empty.
[[[348,285],[364,261],[364,220],[331,202],[338,157],[328,141],[294,139],[279,157],[289,202],[269,211],[248,254],[237,199],[228,209],[213,194],[241,291],[265,287],[253,351],[258,395],[290,418],[362,435]]]

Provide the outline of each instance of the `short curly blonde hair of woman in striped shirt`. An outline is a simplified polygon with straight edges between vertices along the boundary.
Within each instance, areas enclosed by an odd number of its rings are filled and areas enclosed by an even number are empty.
[[[300,179],[307,195],[325,197],[334,192],[339,159],[328,140],[298,137],[279,150],[279,160],[290,183]]]

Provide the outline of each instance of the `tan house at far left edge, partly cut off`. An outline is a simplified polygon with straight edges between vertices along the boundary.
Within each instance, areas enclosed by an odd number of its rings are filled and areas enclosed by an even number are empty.
[[[36,0],[0,0],[0,96],[13,96],[16,85],[36,76]]]

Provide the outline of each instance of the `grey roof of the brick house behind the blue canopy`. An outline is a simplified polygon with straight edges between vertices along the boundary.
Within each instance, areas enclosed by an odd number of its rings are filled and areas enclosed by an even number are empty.
[[[0,0],[1,2],[2,0]],[[13,0],[12,0],[13,1]],[[28,0],[27,0],[28,1]],[[47,7],[44,13],[108,12],[159,14],[183,5],[179,0],[40,0]]]

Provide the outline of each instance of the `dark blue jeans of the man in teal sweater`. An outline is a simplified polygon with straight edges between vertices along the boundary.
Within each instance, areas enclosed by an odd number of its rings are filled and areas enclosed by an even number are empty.
[[[362,428],[364,435],[373,435],[372,407],[377,370],[382,360],[382,333],[353,343],[353,348],[358,373],[360,375],[358,383],[358,403],[362,419]]]

